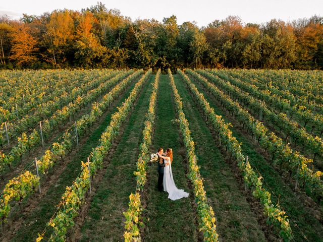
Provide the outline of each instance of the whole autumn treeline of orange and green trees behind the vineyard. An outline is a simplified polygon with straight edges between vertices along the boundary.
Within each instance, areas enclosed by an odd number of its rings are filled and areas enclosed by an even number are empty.
[[[0,18],[0,68],[323,69],[323,17],[199,28],[176,16],[131,21],[98,3],[20,21]]]

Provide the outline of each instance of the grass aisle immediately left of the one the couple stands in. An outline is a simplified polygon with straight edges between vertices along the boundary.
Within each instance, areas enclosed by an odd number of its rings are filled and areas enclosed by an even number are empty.
[[[123,212],[128,209],[129,195],[136,190],[133,172],[136,170],[153,80],[154,75],[150,75],[117,149],[107,164],[106,173],[100,184],[95,185],[97,190],[81,228],[80,241],[123,240]]]

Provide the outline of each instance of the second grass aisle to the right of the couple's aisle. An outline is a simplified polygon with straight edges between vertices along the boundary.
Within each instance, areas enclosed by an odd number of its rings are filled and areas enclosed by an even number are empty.
[[[216,105],[214,99],[210,98],[210,95],[205,92],[205,89],[193,78],[191,78],[191,81],[200,92],[204,93],[205,98],[210,103],[210,106],[214,108],[214,111],[218,115],[222,115],[226,122],[230,122],[231,119]],[[241,147],[243,153],[249,156],[252,167],[259,171],[263,177],[263,186],[272,194],[273,204],[280,204],[287,212],[295,241],[304,241],[304,236],[307,238],[305,241],[323,241],[323,225],[316,218],[319,216],[319,212],[304,207],[299,196],[284,182],[280,173],[265,160],[263,155],[257,151],[256,145],[241,130],[237,129],[237,127],[233,127],[231,130],[237,140],[242,142]],[[310,200],[308,202],[311,203]]]

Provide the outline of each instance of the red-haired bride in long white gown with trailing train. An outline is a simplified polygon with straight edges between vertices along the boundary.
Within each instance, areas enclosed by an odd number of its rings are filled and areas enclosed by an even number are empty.
[[[184,192],[183,189],[178,189],[175,185],[172,172],[172,162],[173,162],[173,151],[172,149],[166,150],[166,156],[158,154],[160,158],[164,159],[164,191],[168,192],[168,198],[171,200],[177,200],[181,198],[187,198],[189,193]]]

